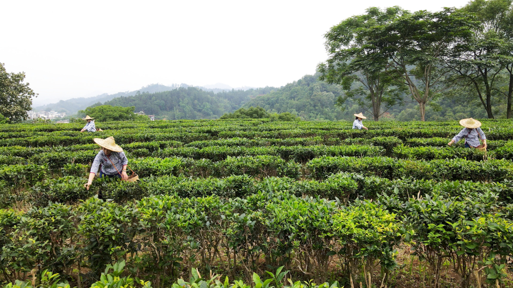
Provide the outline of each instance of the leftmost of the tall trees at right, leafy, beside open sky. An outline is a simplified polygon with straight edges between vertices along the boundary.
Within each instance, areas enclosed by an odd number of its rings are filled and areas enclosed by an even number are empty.
[[[401,74],[387,69],[387,57],[369,57],[366,53],[368,39],[363,31],[388,25],[407,12],[397,6],[384,10],[371,7],[366,12],[343,20],[324,35],[329,57],[318,65],[317,71],[322,73],[320,80],[342,85],[344,95],[337,98],[339,106],[351,98],[378,121],[390,107],[400,102],[403,85],[399,81]]]

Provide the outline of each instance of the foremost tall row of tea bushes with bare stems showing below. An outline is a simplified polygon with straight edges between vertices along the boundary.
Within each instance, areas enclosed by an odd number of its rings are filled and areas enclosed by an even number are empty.
[[[408,243],[437,279],[440,259],[446,259],[468,287],[475,267],[485,262],[479,273],[502,280],[503,264],[513,255],[511,209],[503,213],[488,194],[387,196],[349,205],[287,192],[228,200],[163,195],[124,206],[90,198],[26,213],[0,210],[0,277],[14,281],[37,267],[99,274],[124,258],[147,279],[168,275],[174,281],[182,269],[215,268],[233,276],[257,271],[265,259],[324,282],[336,256],[351,263],[340,268],[345,277],[363,281],[364,271],[375,266],[387,274],[400,269],[397,249]]]

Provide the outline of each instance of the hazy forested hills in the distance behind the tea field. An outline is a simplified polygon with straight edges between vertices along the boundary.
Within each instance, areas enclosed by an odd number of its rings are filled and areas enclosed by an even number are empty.
[[[344,105],[336,106],[337,98],[343,95],[342,87],[319,81],[319,73],[305,75],[301,79],[281,88],[231,90],[214,93],[195,87],[178,88],[156,93],[137,93],[134,96],[116,97],[104,105],[130,107],[155,115],[156,119],[217,119],[225,113],[239,108],[262,107],[270,113],[299,116],[302,120],[349,120],[353,114],[363,112],[361,106],[348,99]],[[101,102],[91,106],[102,105]],[[497,106],[496,115],[505,117],[505,107]],[[447,94],[435,99],[426,109],[426,120],[456,120],[461,118],[486,118],[486,111],[478,101]],[[370,120],[371,117],[369,117]],[[392,106],[380,120],[420,120],[417,102],[407,93],[402,104]]]

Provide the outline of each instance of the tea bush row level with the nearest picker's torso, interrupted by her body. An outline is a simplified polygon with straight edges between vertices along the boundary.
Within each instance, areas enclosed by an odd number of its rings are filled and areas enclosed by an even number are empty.
[[[33,186],[36,182],[53,175],[87,175],[89,163],[95,151],[42,153],[37,157],[43,164],[32,163],[0,166],[0,181],[6,181],[13,189]],[[81,163],[82,162],[82,163]],[[46,164],[51,163],[51,164]],[[146,157],[130,159],[129,166],[140,177],[184,175],[193,177],[227,177],[252,175],[254,177],[307,177],[324,179],[339,172],[356,172],[366,176],[388,179],[412,177],[436,180],[473,180],[500,182],[511,179],[513,163],[507,160],[470,161],[450,160],[403,160],[388,157],[330,157],[314,158],[304,165],[278,156],[258,155],[231,157],[221,161],[192,158]]]

